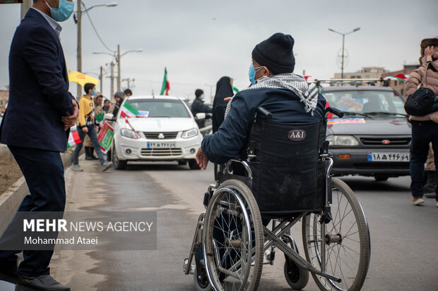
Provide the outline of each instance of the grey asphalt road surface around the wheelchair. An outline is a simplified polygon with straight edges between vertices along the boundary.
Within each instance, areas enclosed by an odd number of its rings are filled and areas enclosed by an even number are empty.
[[[95,161],[81,161],[81,166],[84,172],[67,175],[67,209],[156,209],[158,249],[55,252],[54,277],[71,290],[195,290],[193,275],[184,275],[182,264],[197,217],[204,210],[203,193],[213,182],[212,165],[206,171],[191,171],[176,163],[136,164],[126,171],[105,173],[98,171]],[[362,290],[438,290],[434,199],[413,206],[408,177],[387,182],[360,177],[343,180],[365,209],[371,233],[371,264]],[[300,225],[292,230],[300,247]],[[283,262],[278,251],[275,265],[264,266],[259,290],[291,290],[283,276]],[[319,289],[310,278],[304,290]]]

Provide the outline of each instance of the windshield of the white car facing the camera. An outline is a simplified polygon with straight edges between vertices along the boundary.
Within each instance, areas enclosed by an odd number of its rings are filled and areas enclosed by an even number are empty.
[[[172,99],[128,99],[129,104],[138,111],[148,111],[151,117],[182,117],[190,118],[190,113],[180,100]]]

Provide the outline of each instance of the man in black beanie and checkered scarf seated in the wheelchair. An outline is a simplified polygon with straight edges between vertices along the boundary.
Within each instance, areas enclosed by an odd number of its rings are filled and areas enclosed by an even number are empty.
[[[225,163],[241,154],[259,107],[270,111],[271,121],[278,123],[309,123],[323,118],[326,99],[293,73],[293,46],[290,35],[276,33],[254,47],[249,66],[251,86],[235,95],[218,131],[203,139],[196,154],[201,168],[205,169],[208,161]]]

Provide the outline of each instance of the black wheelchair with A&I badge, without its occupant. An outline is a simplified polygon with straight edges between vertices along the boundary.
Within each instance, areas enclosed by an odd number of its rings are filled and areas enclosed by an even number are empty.
[[[353,191],[331,177],[325,118],[273,123],[271,116],[259,108],[244,159],[218,168],[184,273],[194,274],[196,290],[256,290],[264,264],[273,265],[280,249],[293,289],[304,288],[310,273],[320,290],[360,290],[369,267],[369,229]],[[300,221],[305,258],[290,232]]]

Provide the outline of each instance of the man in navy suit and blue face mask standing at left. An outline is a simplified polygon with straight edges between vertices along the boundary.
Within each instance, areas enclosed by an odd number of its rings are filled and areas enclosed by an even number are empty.
[[[66,191],[60,151],[66,150],[69,128],[78,105],[69,93],[61,26],[73,12],[71,0],[33,0],[18,25],[9,52],[9,101],[0,125],[7,144],[28,183],[30,195],[18,211],[64,211]],[[49,275],[53,250],[0,251],[0,279],[16,290],[70,290]]]

